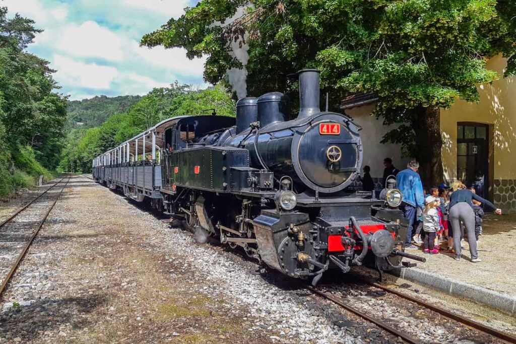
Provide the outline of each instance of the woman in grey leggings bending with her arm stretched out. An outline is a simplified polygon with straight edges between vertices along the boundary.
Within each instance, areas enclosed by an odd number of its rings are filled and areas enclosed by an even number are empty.
[[[461,247],[460,247],[460,222],[462,221],[465,226],[465,232],[467,233],[467,241],[470,244],[471,261],[478,263],[477,253],[477,241],[475,238],[475,214],[473,212],[473,203],[471,200],[477,200],[483,203],[488,208],[495,210],[496,214],[502,214],[502,210],[497,209],[494,204],[474,194],[470,190],[459,189],[454,191],[450,196],[449,204],[449,215],[448,219],[451,222],[451,228],[453,228],[453,246],[455,249],[455,260],[460,260]]]

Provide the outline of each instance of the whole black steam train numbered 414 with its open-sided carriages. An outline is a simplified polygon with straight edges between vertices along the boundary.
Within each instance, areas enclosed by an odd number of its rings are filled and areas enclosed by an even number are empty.
[[[351,190],[362,163],[360,127],[320,111],[319,72],[298,72],[300,110],[280,92],[247,97],[234,118],[158,123],[93,160],[93,177],[150,200],[192,230],[316,284],[328,269],[411,266],[394,188]]]

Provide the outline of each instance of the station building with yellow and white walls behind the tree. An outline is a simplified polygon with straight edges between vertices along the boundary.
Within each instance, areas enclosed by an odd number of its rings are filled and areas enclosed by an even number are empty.
[[[501,56],[488,61],[488,68],[500,78],[492,84],[480,85],[479,103],[457,100],[440,113],[441,149],[444,177],[447,183],[456,180],[467,186],[476,185],[479,193],[493,201],[504,212],[516,212],[516,77],[503,77],[507,60]],[[381,186],[383,159],[391,157],[394,166],[404,169],[408,157],[397,144],[381,144],[383,135],[392,127],[372,116],[374,94],[355,95],[344,99],[341,108],[363,127],[363,166],[371,168],[371,176]],[[424,149],[422,147],[422,149]]]

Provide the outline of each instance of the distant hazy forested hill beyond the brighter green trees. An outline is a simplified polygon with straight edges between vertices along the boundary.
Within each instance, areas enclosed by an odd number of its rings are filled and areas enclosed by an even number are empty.
[[[118,97],[96,96],[92,99],[68,102],[67,131],[92,128],[104,123],[111,114],[125,112],[128,107],[141,99],[139,95]]]

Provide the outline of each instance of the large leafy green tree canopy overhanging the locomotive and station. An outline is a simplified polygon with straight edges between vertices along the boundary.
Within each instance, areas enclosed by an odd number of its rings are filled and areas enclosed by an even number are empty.
[[[384,124],[404,123],[385,140],[424,160],[420,138],[440,145],[436,133],[425,135],[434,128],[421,121],[436,120],[428,109],[478,101],[476,86],[499,77],[487,69],[489,57],[503,54],[505,75],[516,73],[515,14],[513,0],[201,0],[141,44],[207,55],[204,78],[211,83],[242,67],[229,42],[248,44],[252,95],[294,95],[287,75],[318,68],[332,104],[350,92],[376,92]]]

